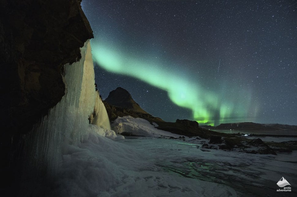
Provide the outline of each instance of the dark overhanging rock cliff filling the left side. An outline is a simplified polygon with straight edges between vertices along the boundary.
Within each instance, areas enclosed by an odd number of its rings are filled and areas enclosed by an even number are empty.
[[[17,150],[22,134],[64,95],[62,65],[79,60],[79,48],[93,38],[80,3],[0,1],[1,188],[9,188],[20,176]],[[17,191],[17,182],[13,184]],[[5,196],[5,189],[1,191]]]

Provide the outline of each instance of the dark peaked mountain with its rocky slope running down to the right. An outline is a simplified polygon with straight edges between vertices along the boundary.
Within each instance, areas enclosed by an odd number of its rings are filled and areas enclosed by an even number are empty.
[[[129,92],[123,88],[117,88],[111,91],[108,98],[105,99],[103,103],[105,105],[109,119],[114,123],[121,122],[121,120],[117,119],[118,117],[127,116],[126,119],[129,119],[129,124],[127,125],[131,126],[131,122],[133,121],[131,121],[132,118],[128,116],[132,116],[133,118],[148,120],[151,123],[149,126],[153,125],[154,128],[159,130],[169,131],[171,133],[185,135],[188,137],[195,137],[195,139],[203,138],[205,141],[209,140],[209,145],[207,143],[203,145],[203,148],[206,149],[211,149],[213,148],[212,144],[216,144],[217,148],[219,149],[231,150],[233,148],[239,148],[242,152],[253,154],[276,154],[273,149],[265,144],[261,139],[250,140],[227,133],[218,133],[212,130],[201,128],[198,122],[186,119],[177,119],[175,122],[165,122],[164,120],[154,117],[141,109],[141,107],[133,100]],[[141,120],[134,121],[142,122]],[[133,127],[137,128],[139,131],[139,128],[143,128],[143,125],[134,125]],[[135,135],[135,133],[131,132],[129,129],[122,132],[121,134],[126,136]]]

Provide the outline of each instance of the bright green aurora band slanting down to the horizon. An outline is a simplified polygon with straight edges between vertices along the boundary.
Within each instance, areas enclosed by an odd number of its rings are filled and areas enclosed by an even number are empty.
[[[234,120],[234,117],[237,120],[246,120],[248,111],[242,109],[249,109],[249,102],[241,103],[240,108],[236,109],[231,103],[232,100],[220,99],[222,97],[203,89],[191,77],[166,69],[166,65],[160,60],[133,57],[115,47],[104,46],[102,42],[91,42],[93,59],[101,67],[113,73],[138,78],[167,91],[173,103],[192,110],[193,119],[198,123],[214,126]]]

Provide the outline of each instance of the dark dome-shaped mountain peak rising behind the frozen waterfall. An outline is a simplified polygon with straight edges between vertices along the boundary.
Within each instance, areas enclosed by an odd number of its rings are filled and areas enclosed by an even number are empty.
[[[126,108],[126,109],[130,109],[133,111],[147,114],[147,112],[144,111],[139,106],[139,104],[137,104],[133,100],[131,94],[126,89],[121,88],[121,87],[118,87],[115,90],[112,90],[109,93],[108,97],[104,101],[113,105],[113,106]]]

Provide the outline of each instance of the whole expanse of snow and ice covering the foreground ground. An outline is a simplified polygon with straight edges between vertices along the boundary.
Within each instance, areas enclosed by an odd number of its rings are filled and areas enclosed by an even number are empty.
[[[296,196],[297,153],[255,155],[203,149],[194,138],[113,141],[89,131],[69,146],[50,191],[55,196]]]

